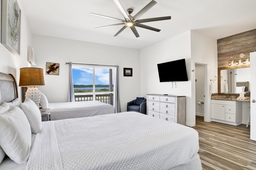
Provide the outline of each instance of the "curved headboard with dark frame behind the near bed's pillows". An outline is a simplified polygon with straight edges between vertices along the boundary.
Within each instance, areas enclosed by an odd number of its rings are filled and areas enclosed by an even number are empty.
[[[0,104],[16,98],[18,98],[18,90],[14,76],[0,72]]]

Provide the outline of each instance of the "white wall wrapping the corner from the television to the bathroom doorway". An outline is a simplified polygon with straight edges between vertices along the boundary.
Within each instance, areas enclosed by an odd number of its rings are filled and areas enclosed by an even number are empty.
[[[177,82],[172,88],[171,82],[160,83],[157,64],[185,58],[188,82]],[[196,123],[195,63],[207,64],[207,121],[210,121],[210,79],[217,76],[217,40],[201,35],[196,31],[187,31],[141,50],[141,95],[172,94],[186,96],[186,125]],[[175,73],[171,73],[175,74]],[[217,81],[213,83],[213,93],[217,93]]]

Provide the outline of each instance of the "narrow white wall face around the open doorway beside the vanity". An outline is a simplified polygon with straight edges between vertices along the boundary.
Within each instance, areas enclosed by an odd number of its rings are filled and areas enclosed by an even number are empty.
[[[192,68],[195,68],[195,63],[204,63],[207,65],[207,75],[205,79],[207,81],[205,87],[205,121],[211,121],[210,118],[210,79],[214,80],[212,84],[212,93],[218,92],[218,81],[215,80],[217,76],[217,40],[211,37],[202,35],[199,32],[191,31],[191,57]],[[195,99],[195,71],[192,73],[192,99]],[[192,100],[192,114],[191,120],[195,119],[195,105],[196,101]]]

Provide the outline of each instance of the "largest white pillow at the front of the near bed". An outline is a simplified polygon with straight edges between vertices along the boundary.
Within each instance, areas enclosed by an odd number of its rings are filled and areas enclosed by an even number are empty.
[[[22,109],[14,107],[0,114],[0,145],[15,163],[27,162],[30,156],[31,129]]]

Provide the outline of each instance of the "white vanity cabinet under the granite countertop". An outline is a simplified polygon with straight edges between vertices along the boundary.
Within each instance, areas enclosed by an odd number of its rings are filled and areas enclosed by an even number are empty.
[[[229,125],[242,124],[242,102],[227,100],[211,101],[212,121]]]

